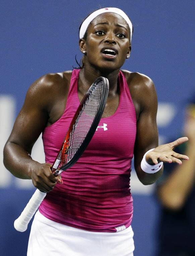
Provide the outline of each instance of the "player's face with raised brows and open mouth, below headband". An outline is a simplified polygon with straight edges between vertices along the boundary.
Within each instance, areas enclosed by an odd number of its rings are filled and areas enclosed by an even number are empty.
[[[85,63],[104,71],[120,69],[131,50],[129,26],[120,15],[103,13],[88,26],[80,47],[86,50]]]

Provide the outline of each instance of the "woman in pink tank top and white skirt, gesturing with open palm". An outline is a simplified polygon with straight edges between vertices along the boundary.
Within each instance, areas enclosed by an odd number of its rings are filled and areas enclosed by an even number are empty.
[[[161,175],[163,162],[181,164],[181,159],[188,159],[173,151],[186,137],[158,146],[152,81],[143,74],[120,70],[130,56],[132,30],[120,9],[93,12],[80,27],[83,67],[45,75],[27,92],[4,149],[4,163],[16,177],[31,179],[36,188],[51,191],[35,216],[27,255],[133,255],[129,188],[133,155],[144,185]],[[99,76],[108,78],[110,85],[100,126],[78,162],[62,178],[55,177],[50,167],[64,131]],[[45,164],[30,157],[42,132]]]

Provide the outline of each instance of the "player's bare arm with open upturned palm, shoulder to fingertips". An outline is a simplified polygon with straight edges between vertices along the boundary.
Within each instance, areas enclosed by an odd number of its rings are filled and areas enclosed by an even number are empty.
[[[159,162],[176,162],[187,156],[178,155],[173,150],[188,138],[180,138],[175,142],[158,146],[158,130],[156,125],[157,96],[151,79],[139,73],[127,75],[129,89],[137,115],[137,133],[134,147],[134,166],[139,180],[144,185],[154,183],[163,173],[163,168],[155,173],[146,173],[141,169],[141,160],[145,152],[154,148],[146,155],[146,162],[153,165]]]

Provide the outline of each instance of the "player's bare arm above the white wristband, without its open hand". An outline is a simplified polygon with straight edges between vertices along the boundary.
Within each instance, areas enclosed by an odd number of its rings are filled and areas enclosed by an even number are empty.
[[[163,169],[149,174],[141,169],[141,160],[145,152],[158,146],[158,130],[156,125],[157,96],[153,82],[143,77],[140,83],[140,112],[137,120],[137,133],[134,147],[134,166],[139,180],[144,185],[154,183],[161,176]],[[151,164],[151,162],[150,162]]]

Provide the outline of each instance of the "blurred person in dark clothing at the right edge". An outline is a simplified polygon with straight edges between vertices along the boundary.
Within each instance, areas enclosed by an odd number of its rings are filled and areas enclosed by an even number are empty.
[[[158,256],[195,256],[195,98],[186,108],[184,136],[189,141],[175,151],[189,160],[182,165],[164,164],[157,181]]]

